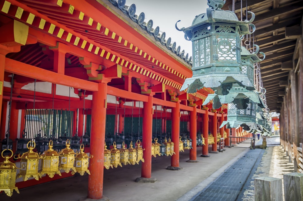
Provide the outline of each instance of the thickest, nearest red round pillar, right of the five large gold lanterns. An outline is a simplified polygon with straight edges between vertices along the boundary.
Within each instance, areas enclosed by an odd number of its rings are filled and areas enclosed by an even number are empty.
[[[92,125],[88,175],[88,198],[101,199],[103,196],[104,141],[106,118],[107,83],[98,83],[98,91],[93,92]]]

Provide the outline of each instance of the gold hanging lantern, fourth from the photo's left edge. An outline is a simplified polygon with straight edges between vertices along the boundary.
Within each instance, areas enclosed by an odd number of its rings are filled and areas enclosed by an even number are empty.
[[[61,149],[59,152],[60,165],[59,170],[64,170],[66,173],[69,171],[76,172],[75,170],[75,152],[73,149],[69,148],[71,146],[69,139],[65,142],[66,147]]]

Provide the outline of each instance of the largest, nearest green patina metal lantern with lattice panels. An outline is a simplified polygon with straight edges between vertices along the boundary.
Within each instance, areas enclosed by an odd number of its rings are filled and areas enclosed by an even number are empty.
[[[176,29],[185,33],[185,39],[192,41],[193,50],[193,76],[185,79],[180,91],[188,88],[187,93],[195,93],[210,87],[216,94],[226,95],[233,83],[254,87],[247,75],[241,73],[240,36],[255,31],[251,24],[255,14],[248,12],[252,18],[242,22],[234,12],[221,10],[224,4],[223,0],[208,0],[206,13],[197,15],[190,27],[178,29],[176,24]]]

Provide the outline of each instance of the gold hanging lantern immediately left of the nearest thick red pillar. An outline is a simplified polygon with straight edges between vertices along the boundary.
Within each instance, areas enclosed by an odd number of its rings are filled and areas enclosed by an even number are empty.
[[[93,158],[93,155],[88,156],[86,153],[84,153],[84,145],[80,145],[80,153],[76,154],[75,156],[75,171],[72,172],[72,175],[74,175],[76,172],[78,172],[81,176],[84,175],[86,172],[87,174],[91,174],[88,170],[88,158]]]

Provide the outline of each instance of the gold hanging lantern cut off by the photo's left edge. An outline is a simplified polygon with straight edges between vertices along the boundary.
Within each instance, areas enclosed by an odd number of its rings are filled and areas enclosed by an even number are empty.
[[[3,156],[4,151],[12,152],[11,156]],[[4,161],[0,163],[0,191],[4,191],[7,196],[12,196],[15,190],[19,193],[16,185],[16,170],[18,169],[15,163],[10,162],[8,159],[13,156],[13,151],[10,149],[5,149],[1,152]]]

